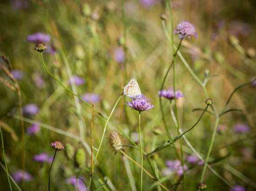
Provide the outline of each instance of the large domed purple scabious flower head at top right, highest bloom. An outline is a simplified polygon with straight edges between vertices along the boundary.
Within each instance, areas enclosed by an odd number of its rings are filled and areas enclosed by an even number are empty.
[[[174,34],[178,34],[180,39],[190,38],[190,36],[194,36],[197,38],[197,33],[195,32],[195,27],[188,21],[182,21],[177,25]]]

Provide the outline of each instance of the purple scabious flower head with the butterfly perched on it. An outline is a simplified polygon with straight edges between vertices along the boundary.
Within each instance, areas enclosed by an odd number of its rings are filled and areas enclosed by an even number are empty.
[[[154,105],[151,105],[151,100],[144,95],[132,98],[132,101],[127,102],[127,105],[137,111],[145,111],[154,108]]]

